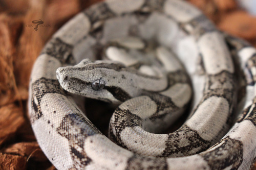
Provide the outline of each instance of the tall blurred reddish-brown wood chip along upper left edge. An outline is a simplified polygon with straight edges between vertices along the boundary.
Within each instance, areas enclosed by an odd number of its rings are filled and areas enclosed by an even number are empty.
[[[0,15],[0,107],[19,99],[16,86],[13,54],[15,53],[16,38],[22,26],[20,19],[6,14]],[[11,32],[10,30],[14,30]]]

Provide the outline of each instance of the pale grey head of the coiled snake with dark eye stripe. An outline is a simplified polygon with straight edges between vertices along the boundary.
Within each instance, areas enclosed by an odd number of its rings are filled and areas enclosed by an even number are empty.
[[[131,99],[129,92],[122,88],[125,83],[129,84],[122,81],[125,68],[113,61],[85,59],[75,66],[59,67],[56,76],[61,87],[68,92],[118,104]]]

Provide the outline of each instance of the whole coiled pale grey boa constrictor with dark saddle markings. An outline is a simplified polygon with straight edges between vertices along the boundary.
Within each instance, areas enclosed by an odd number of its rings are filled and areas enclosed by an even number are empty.
[[[114,61],[99,61],[106,57]],[[32,128],[58,169],[250,169],[255,65],[253,47],[218,31],[184,1],[105,1],[71,19],[36,60]],[[70,92],[122,103],[109,136],[123,148],[90,122]],[[188,110],[179,130],[151,133]]]

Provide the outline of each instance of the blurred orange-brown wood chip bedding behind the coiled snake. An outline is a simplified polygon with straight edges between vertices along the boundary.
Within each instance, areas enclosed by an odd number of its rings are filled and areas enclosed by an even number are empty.
[[[55,169],[27,116],[31,68],[65,22],[101,0],[0,0],[0,169]],[[256,47],[255,0],[187,0],[217,27]],[[33,23],[34,21],[34,23]],[[44,27],[35,31],[43,21]],[[256,170],[256,164],[252,168]]]

